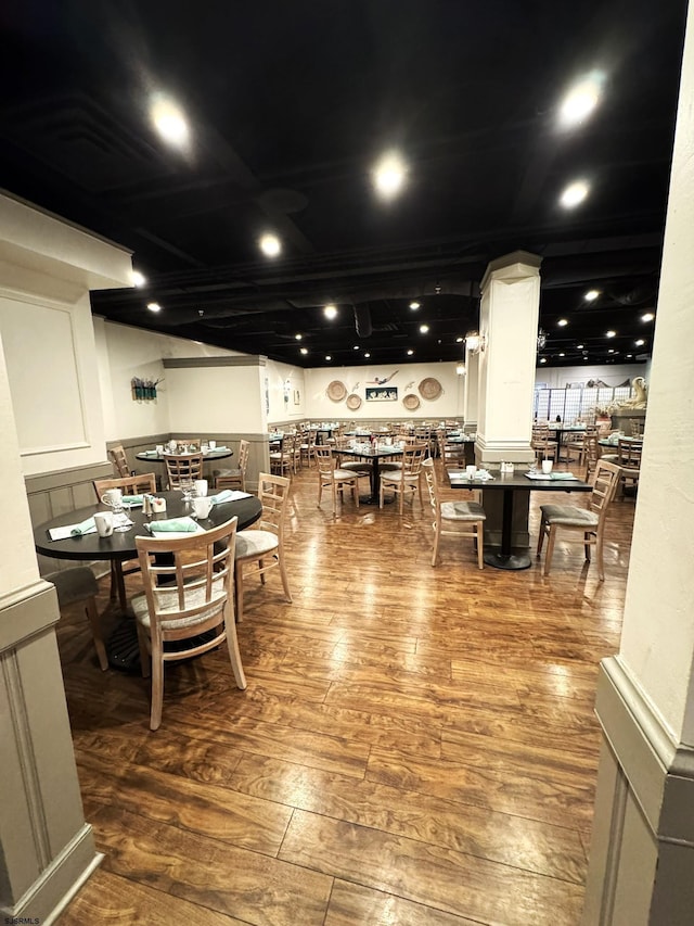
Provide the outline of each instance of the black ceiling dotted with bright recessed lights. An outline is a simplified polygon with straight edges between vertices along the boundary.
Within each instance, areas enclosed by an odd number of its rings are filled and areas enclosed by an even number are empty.
[[[457,360],[488,262],[524,249],[540,356],[628,363],[653,337],[685,7],[3,0],[0,186],[133,252],[145,287],[92,296],[127,325],[306,367]],[[560,130],[596,69],[600,105]],[[187,150],[154,130],[156,92]],[[384,203],[371,170],[393,149],[408,180]]]

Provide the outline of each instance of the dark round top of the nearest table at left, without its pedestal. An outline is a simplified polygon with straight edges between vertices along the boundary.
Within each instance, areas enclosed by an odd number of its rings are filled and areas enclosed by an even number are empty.
[[[110,511],[106,505],[91,505],[88,508],[79,508],[77,511],[68,511],[65,515],[60,515],[44,524],[39,524],[34,530],[34,544],[37,553],[42,556],[51,557],[52,559],[72,559],[72,560],[126,560],[136,559],[138,556],[134,538],[139,534],[145,534],[143,524],[153,520],[164,520],[166,518],[180,518],[184,515],[190,515],[190,506],[183,503],[183,496],[180,492],[160,492],[157,493],[158,498],[166,498],[167,510],[162,515],[152,515],[145,517],[142,513],[142,507],[126,509],[130,520],[134,524],[129,531],[114,533],[110,537],[100,537],[99,534],[82,534],[77,537],[67,537],[64,541],[52,541],[49,534],[50,528],[61,528],[65,524],[79,524],[95,515],[98,511]],[[221,505],[215,505],[209,513],[209,518],[200,521],[201,527],[217,527],[223,524],[230,518],[236,516],[239,518],[237,530],[242,531],[250,527],[260,517],[262,506],[255,495],[248,498],[241,498],[237,502],[224,502]]]

